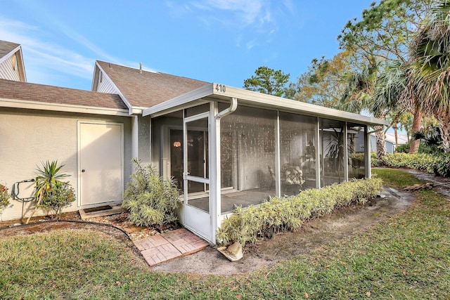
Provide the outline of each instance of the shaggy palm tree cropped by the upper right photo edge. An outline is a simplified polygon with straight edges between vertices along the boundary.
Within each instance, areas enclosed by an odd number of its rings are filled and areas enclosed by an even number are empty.
[[[420,107],[439,120],[444,151],[450,152],[450,1],[440,0],[430,10],[411,43],[407,89],[416,93]]]

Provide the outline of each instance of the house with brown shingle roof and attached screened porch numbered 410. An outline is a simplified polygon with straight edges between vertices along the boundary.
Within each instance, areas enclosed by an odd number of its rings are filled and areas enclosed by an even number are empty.
[[[122,201],[138,157],[173,176],[180,222],[209,242],[236,205],[370,177],[358,133],[383,120],[97,61],[93,91],[0,79],[0,180],[33,178],[58,159],[75,187],[66,210]],[[102,93],[99,93],[99,92]],[[346,138],[345,138],[346,137]],[[352,149],[352,150],[348,150]],[[319,171],[320,170],[320,171]],[[28,209],[26,206],[25,209]],[[20,218],[21,205],[1,218]]]

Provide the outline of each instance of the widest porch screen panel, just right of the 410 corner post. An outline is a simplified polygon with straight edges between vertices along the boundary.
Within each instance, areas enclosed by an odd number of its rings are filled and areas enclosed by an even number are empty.
[[[221,213],[275,195],[276,111],[238,106],[221,119]]]

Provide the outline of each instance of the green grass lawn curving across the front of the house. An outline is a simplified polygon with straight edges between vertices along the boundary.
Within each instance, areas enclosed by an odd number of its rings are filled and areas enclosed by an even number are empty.
[[[401,170],[373,174],[394,188],[419,182]],[[0,299],[450,299],[450,202],[432,190],[416,196],[364,233],[229,277],[152,273],[94,231],[3,238]]]

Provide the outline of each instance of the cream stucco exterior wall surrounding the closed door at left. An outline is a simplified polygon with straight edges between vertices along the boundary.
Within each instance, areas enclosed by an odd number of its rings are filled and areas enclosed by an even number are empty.
[[[0,182],[9,191],[13,183],[36,177],[41,162],[58,160],[61,171],[69,174],[65,180],[77,191],[77,120],[108,121],[124,124],[124,185],[131,174],[131,118],[84,115],[37,110],[2,109],[0,111]],[[21,190],[27,186],[21,183]],[[20,193],[20,197],[29,197]],[[1,221],[20,219],[22,203],[10,200],[13,207],[5,209]],[[27,211],[28,204],[25,204]],[[76,211],[77,201],[64,211]],[[27,211],[30,214],[31,210]],[[39,211],[37,215],[45,215]]]

